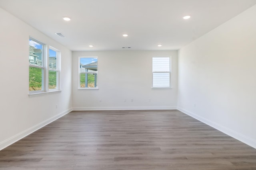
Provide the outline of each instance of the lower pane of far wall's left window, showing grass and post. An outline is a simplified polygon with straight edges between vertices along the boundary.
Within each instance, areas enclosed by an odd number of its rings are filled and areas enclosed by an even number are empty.
[[[80,87],[97,87],[97,73],[80,73]]]

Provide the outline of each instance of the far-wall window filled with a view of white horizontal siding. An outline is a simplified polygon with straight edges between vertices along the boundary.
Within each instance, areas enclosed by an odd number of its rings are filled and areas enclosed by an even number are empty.
[[[153,57],[153,88],[170,88],[170,57]]]

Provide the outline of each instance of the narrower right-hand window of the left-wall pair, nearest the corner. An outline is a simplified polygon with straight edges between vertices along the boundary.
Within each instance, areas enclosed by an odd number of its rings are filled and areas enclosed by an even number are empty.
[[[49,90],[58,90],[58,78],[59,78],[59,51],[53,47],[49,47],[48,55],[48,88]]]

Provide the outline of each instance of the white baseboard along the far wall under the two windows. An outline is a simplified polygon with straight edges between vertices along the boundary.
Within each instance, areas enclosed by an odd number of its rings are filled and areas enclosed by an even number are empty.
[[[74,111],[85,111],[85,110],[174,110],[176,106],[164,106],[164,107],[73,107]]]

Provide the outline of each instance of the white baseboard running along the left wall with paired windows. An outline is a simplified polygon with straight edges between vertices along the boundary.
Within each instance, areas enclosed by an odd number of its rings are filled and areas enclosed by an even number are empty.
[[[51,118],[49,118],[45,121],[42,121],[41,123],[39,123],[37,125],[34,125],[33,127],[30,127],[28,129],[26,129],[25,131],[22,131],[22,132],[18,133],[17,135],[14,135],[13,137],[10,137],[9,139],[6,139],[5,141],[2,141],[0,143],[0,150],[8,147],[9,145],[12,145],[13,143],[17,142],[18,140],[30,135],[34,131],[37,131],[38,129],[44,127],[45,125],[48,125],[49,123],[55,121],[56,119],[59,119],[60,117],[66,115],[70,111],[72,111],[72,109],[68,109],[66,111],[63,111],[62,113],[59,113],[58,115],[55,115],[54,117],[51,117]]]

